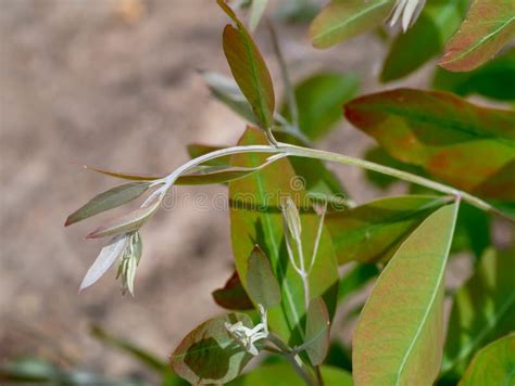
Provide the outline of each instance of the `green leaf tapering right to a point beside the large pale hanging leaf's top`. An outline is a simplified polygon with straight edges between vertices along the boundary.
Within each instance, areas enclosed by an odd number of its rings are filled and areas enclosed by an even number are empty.
[[[449,201],[449,197],[406,195],[327,214],[326,227],[338,262],[388,260],[427,216]]]

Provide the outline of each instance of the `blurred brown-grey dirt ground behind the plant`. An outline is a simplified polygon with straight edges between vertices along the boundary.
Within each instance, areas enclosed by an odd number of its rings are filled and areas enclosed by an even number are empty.
[[[102,242],[83,239],[98,220],[64,229],[64,219],[118,181],[76,163],[166,172],[188,159],[187,143],[234,143],[244,124],[210,98],[197,73],[228,74],[221,49],[228,21],[206,0],[0,0],[0,360],[41,355],[110,375],[138,373],[88,326],[165,358],[222,311],[211,292],[230,272],[228,216],[196,207],[193,197],[225,188],[181,188],[183,204],[145,227],[134,298],[121,296],[114,271],[78,295]],[[359,74],[362,92],[381,87],[376,37],[316,51],[305,25],[279,30],[294,79],[332,68]],[[266,30],[258,42],[277,75]],[[391,86],[426,78],[422,70]],[[321,146],[360,155],[370,143],[341,124]],[[360,170],[338,173],[356,202],[378,195]]]

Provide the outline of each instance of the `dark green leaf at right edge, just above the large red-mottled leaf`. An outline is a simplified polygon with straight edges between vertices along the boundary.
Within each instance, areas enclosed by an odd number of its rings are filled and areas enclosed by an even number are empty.
[[[515,101],[515,49],[468,73],[437,67],[432,87],[466,97],[479,94],[500,101]]]

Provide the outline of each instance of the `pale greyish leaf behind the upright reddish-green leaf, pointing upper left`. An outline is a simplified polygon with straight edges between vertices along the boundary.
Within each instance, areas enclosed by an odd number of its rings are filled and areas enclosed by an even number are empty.
[[[234,79],[212,72],[202,72],[201,74],[214,98],[243,119],[258,125],[251,105]]]

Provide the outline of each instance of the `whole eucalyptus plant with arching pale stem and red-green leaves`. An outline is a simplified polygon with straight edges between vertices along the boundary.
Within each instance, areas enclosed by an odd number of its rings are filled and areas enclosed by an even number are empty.
[[[176,375],[191,384],[510,384],[514,253],[492,246],[489,226],[502,222],[513,234],[515,112],[463,95],[515,100],[515,87],[503,85],[515,78],[513,49],[492,60],[515,37],[515,2],[474,0],[467,12],[465,0],[334,0],[312,21],[309,35],[319,49],[400,24],[381,80],[403,77],[443,50],[434,85],[448,91],[401,88],[355,98],[357,79],[338,73],[293,87],[269,26],[281,104],[249,31],[263,24],[266,3],[250,2],[248,29],[237,12],[249,2],[231,8],[217,0],[229,18],[222,40],[233,78],[201,74],[214,98],[247,121],[237,144],[190,144],[191,159],[167,176],[87,166],[127,182],[95,196],[66,226],[146,197],[138,209],[88,234],[110,240],[80,290],[117,261],[122,288],[133,294],[140,229],[171,189],[225,183],[235,272],[213,297],[228,312],[178,344],[169,357]],[[485,86],[489,81],[493,86]],[[342,113],[377,141],[366,159],[314,147]],[[363,168],[380,186],[405,181],[410,194],[356,205],[328,163]],[[474,272],[447,292],[449,259],[464,249],[475,256]],[[372,279],[372,293],[356,311],[350,366],[343,358],[350,347],[336,360],[328,357],[335,314]],[[447,325],[445,298],[453,303]],[[265,357],[263,364],[240,376],[254,357]]]

